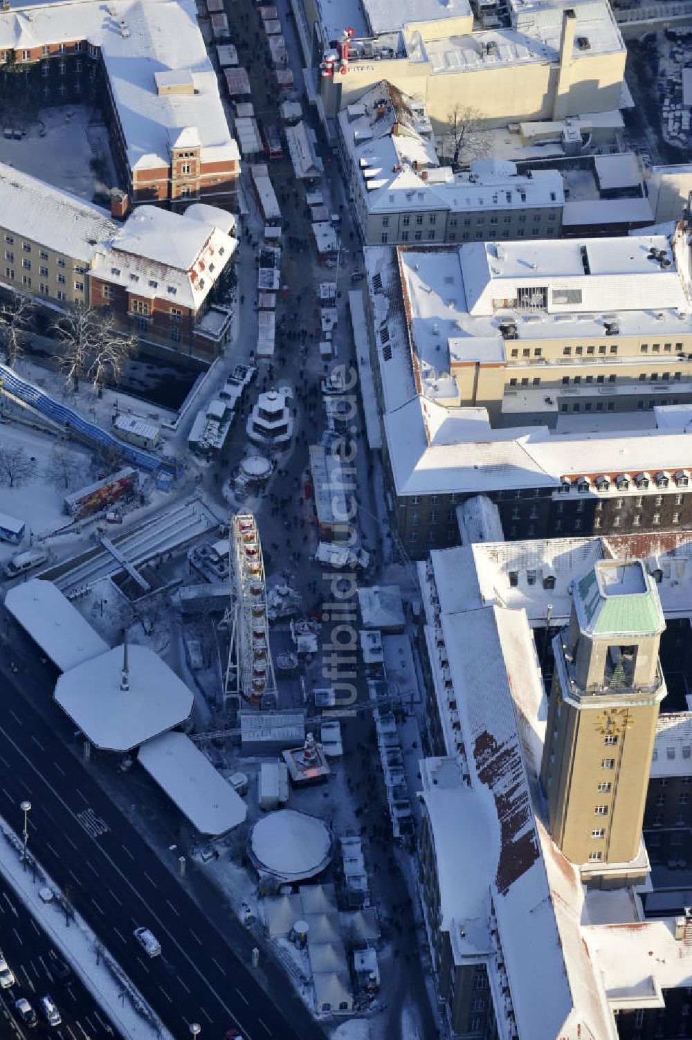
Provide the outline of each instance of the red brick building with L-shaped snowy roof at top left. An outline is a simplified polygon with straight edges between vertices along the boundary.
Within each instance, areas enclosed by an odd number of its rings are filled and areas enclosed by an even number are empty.
[[[37,43],[41,41],[41,43]],[[233,207],[240,172],[193,0],[113,0],[14,8],[0,19],[0,66],[50,81],[103,74],[111,142],[133,204],[204,200]],[[78,96],[81,90],[68,92]]]

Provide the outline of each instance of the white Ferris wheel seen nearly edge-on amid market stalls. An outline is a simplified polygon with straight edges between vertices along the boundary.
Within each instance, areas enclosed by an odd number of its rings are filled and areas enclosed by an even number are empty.
[[[276,681],[270,649],[262,546],[252,513],[238,513],[233,517],[228,552],[232,603],[224,702],[228,697],[239,695],[253,704],[261,704],[267,694],[276,694]]]

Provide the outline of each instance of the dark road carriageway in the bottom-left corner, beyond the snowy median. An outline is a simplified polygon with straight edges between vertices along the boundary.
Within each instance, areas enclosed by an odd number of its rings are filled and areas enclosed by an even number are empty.
[[[0,942],[16,984],[0,991],[0,1035],[28,1038],[15,1002],[25,996],[39,1013],[39,1000],[49,994],[62,1021],[51,1030],[55,1040],[126,1040],[107,1020],[92,994],[73,974],[46,933],[0,879]]]

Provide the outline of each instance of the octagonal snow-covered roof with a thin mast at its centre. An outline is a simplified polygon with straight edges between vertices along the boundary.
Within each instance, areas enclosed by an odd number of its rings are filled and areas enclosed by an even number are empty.
[[[57,681],[54,697],[96,748],[131,751],[184,722],[193,695],[148,647],[127,648],[123,688],[123,647],[76,665]]]

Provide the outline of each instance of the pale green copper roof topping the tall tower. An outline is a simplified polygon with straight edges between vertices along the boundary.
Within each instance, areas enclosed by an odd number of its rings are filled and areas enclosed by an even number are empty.
[[[574,586],[582,631],[595,636],[658,635],[666,627],[659,590],[641,560],[601,560]]]

